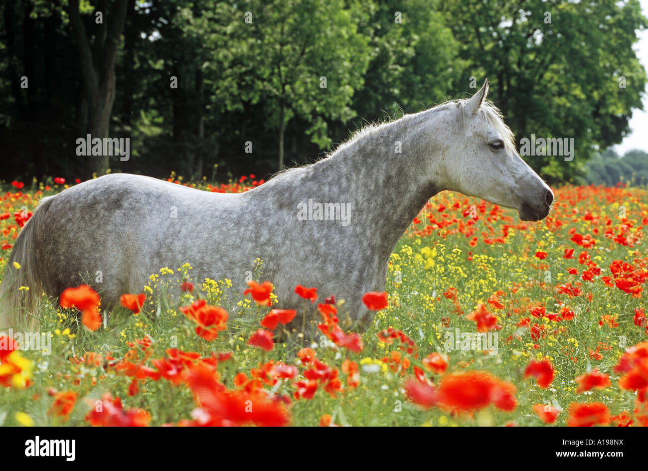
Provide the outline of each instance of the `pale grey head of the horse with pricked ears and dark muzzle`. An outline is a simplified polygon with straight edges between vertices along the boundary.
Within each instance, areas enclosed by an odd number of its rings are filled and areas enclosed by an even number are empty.
[[[515,150],[500,111],[486,102],[488,80],[469,100],[457,102],[457,129],[443,157],[448,189],[517,209],[523,221],[549,214],[553,192]],[[457,142],[458,141],[458,142]]]

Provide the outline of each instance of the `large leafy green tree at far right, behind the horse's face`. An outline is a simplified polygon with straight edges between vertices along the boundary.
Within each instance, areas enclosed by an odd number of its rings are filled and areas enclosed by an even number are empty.
[[[599,148],[621,142],[642,108],[646,73],[632,45],[647,25],[636,0],[468,0],[444,6],[470,76],[491,79],[492,99],[518,139],[573,138],[575,158],[536,155],[551,181],[579,174]]]

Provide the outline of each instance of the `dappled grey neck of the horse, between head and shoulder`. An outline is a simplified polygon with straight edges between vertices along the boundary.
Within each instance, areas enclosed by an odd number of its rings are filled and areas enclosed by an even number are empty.
[[[372,249],[384,262],[442,189],[426,170],[440,154],[435,122],[437,116],[428,110],[382,125],[308,169],[308,185],[316,187],[312,194],[350,203],[351,225],[373,238]]]

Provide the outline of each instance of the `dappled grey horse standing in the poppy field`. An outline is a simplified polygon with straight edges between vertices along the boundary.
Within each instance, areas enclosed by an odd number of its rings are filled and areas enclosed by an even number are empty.
[[[374,312],[362,295],[384,290],[389,255],[441,190],[517,209],[522,220],[549,213],[551,189],[517,154],[487,91],[488,81],[467,100],[367,126],[324,159],[240,194],[111,174],[43,198],[0,284],[0,328],[25,325],[42,292],[56,297],[97,271],[110,310],[185,262],[195,280],[231,279],[242,292],[260,258],[259,281],[275,286],[277,307],[297,309],[294,326],[318,316],[295,293],[301,284],[318,288],[319,302],[344,299],[364,330]]]

